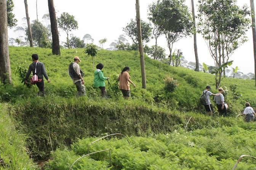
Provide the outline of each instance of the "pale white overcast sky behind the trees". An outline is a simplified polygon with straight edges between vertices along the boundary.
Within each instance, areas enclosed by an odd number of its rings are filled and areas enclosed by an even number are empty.
[[[147,7],[156,0],[140,0],[141,19],[147,20]],[[27,0],[29,6],[30,22],[37,18],[36,16],[36,0]],[[196,3],[197,0],[194,0]],[[14,14],[18,19],[18,25],[22,26],[24,21],[23,17],[26,17],[24,1],[13,0]],[[107,38],[107,42],[104,48],[108,48],[109,44],[118,38],[119,35],[125,34],[122,30],[123,27],[130,22],[130,19],[135,19],[135,0],[54,0],[55,10],[57,17],[61,13],[67,12],[75,16],[78,21],[78,30],[74,30],[71,33],[81,39],[85,34],[90,34],[94,39],[94,43],[98,44],[99,39]],[[239,6],[247,4],[250,7],[250,0],[237,0]],[[191,9],[190,0],[186,0],[186,5]],[[38,20],[43,24],[45,20],[42,19],[43,14],[48,13],[48,1],[37,0],[38,8]],[[196,7],[197,8],[197,7]],[[50,23],[48,23],[50,24]],[[17,38],[17,33],[14,33],[13,29],[8,30],[10,38]],[[239,71],[247,74],[249,72],[254,73],[254,57],[253,57],[253,42],[252,31],[248,30],[246,33],[248,41],[245,42],[239,49],[237,49],[231,57],[234,60],[233,67],[238,66]],[[126,39],[129,39],[126,36]],[[61,31],[60,41],[66,41],[66,33]],[[131,42],[131,40],[129,39]],[[152,39],[148,45],[154,45],[154,39]],[[162,36],[158,40],[158,45],[166,49],[168,54],[168,48],[165,37]],[[214,60],[210,56],[208,47],[201,35],[197,35],[197,47],[199,62],[203,62],[207,65],[214,65]],[[174,49],[181,49],[183,55],[187,61],[195,62],[193,37],[183,38],[174,44]]]

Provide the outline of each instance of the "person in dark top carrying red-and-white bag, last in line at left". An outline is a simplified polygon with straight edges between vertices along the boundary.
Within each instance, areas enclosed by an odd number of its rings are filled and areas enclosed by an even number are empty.
[[[38,92],[38,96],[44,96],[45,95],[45,84],[43,82],[43,76],[45,77],[45,79],[47,80],[48,83],[50,83],[51,81],[49,80],[46,70],[45,70],[45,65],[38,61],[38,55],[37,54],[32,54],[32,61],[33,63],[31,63],[29,65],[29,70],[27,71],[26,77],[25,77],[25,81],[24,83],[27,84],[27,79],[29,78],[31,71],[33,75],[37,75],[38,77],[38,81],[36,83],[39,92]]]

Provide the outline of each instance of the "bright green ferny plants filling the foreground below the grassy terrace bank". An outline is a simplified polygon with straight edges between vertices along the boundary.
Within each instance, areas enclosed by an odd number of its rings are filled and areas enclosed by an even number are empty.
[[[233,127],[203,128],[192,132],[178,129],[154,137],[99,140],[85,138],[71,149],[52,152],[53,160],[46,170],[69,170],[79,157],[101,150],[110,150],[84,157],[74,170],[230,170],[242,154],[255,156],[256,126],[242,123]],[[90,147],[88,147],[90,145]],[[256,160],[244,158],[237,170],[255,170]]]

